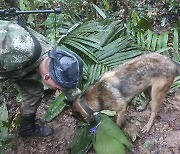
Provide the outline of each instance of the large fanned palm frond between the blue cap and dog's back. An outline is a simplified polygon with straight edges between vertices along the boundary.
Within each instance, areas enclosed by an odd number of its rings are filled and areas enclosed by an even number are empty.
[[[71,29],[59,45],[76,52],[84,60],[84,89],[104,72],[143,53],[126,34],[121,20],[88,21]]]

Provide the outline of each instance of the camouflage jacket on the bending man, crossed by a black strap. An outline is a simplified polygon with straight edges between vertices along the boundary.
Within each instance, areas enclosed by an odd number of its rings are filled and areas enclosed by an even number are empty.
[[[28,28],[29,31],[39,40],[42,52],[39,59],[32,65],[22,68],[35,51],[35,45],[29,32],[17,24],[17,21],[0,20],[0,78],[19,79],[33,71],[39,65],[53,45],[41,34]],[[8,74],[12,70],[13,75]],[[3,73],[7,72],[7,73]]]

